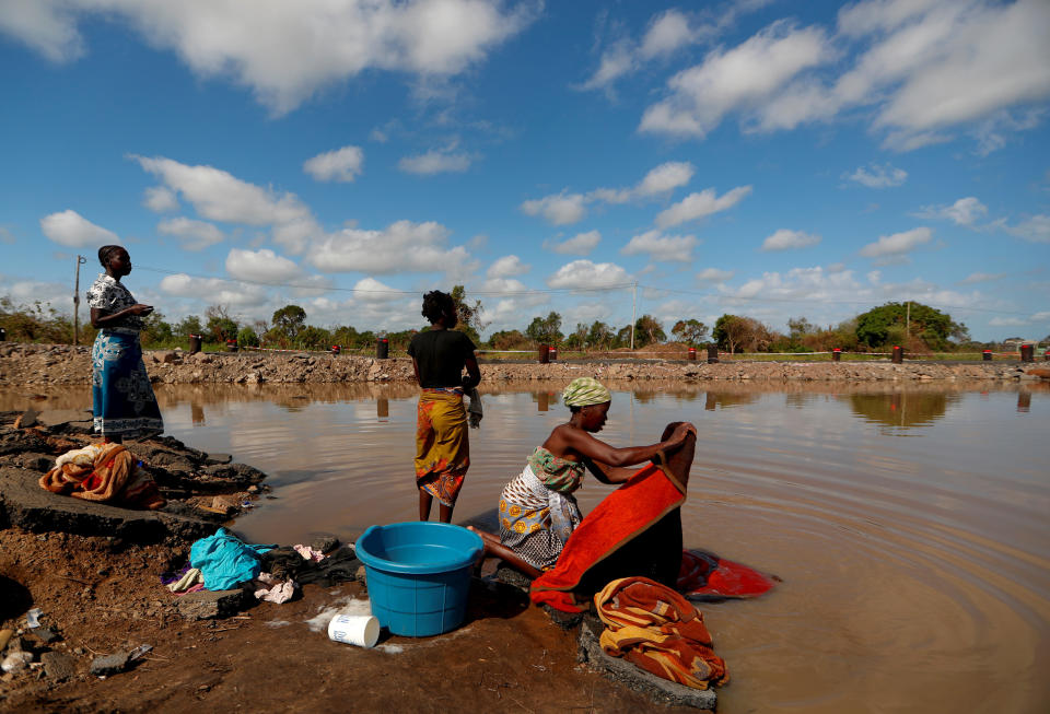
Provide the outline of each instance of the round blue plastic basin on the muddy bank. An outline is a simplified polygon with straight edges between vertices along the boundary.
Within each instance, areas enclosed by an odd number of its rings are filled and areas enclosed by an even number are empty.
[[[392,633],[427,637],[463,623],[480,536],[446,523],[395,523],[372,526],[354,548],[372,614]]]

